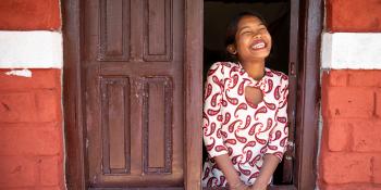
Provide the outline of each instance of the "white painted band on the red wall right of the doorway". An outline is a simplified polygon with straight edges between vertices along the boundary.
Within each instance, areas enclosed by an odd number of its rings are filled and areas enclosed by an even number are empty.
[[[381,33],[323,33],[321,67],[381,69]]]

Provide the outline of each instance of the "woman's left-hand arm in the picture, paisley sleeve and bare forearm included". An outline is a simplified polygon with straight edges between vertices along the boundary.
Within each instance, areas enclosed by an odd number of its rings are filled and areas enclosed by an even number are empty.
[[[218,167],[224,174],[230,189],[245,190],[248,187],[241,181],[238,173],[233,167],[233,163],[229,157],[228,147],[221,134],[221,123],[223,121],[221,101],[224,78],[222,69],[223,66],[221,63],[214,63],[208,71],[204,94],[204,142],[208,154],[216,161]]]

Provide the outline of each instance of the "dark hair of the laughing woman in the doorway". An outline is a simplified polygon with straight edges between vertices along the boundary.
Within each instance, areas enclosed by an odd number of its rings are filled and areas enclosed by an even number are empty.
[[[235,34],[237,33],[237,29],[238,29],[238,23],[245,16],[258,17],[266,27],[268,26],[265,17],[262,15],[260,15],[259,13],[257,13],[257,12],[245,11],[245,12],[241,12],[237,15],[235,15],[230,21],[230,23],[229,23],[229,25],[226,27],[226,36],[225,36],[225,53],[226,53],[228,59],[231,60],[231,61],[236,61],[236,56],[231,54],[231,53],[229,53],[226,51],[226,48],[228,48],[229,45],[235,43]]]

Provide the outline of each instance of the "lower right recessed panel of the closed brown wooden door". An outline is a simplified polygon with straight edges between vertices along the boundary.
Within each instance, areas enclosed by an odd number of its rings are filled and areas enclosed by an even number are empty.
[[[169,78],[146,78],[143,99],[144,173],[172,172],[172,81]]]

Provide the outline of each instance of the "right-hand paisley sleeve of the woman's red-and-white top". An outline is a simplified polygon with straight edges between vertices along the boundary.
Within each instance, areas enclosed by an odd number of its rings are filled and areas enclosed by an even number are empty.
[[[270,131],[266,154],[274,154],[280,162],[286,151],[288,141],[287,126],[287,98],[288,98],[288,80],[283,80],[280,88],[279,105],[275,113],[275,126]]]

